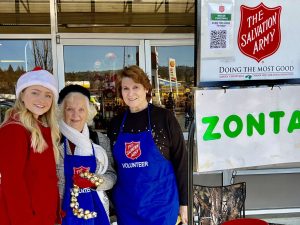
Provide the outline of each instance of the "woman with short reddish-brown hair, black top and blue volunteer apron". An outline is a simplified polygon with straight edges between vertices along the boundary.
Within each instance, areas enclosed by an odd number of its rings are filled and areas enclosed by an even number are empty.
[[[152,87],[138,66],[121,71],[116,89],[128,106],[108,130],[118,225],[187,223],[187,151],[174,113],[149,103]]]

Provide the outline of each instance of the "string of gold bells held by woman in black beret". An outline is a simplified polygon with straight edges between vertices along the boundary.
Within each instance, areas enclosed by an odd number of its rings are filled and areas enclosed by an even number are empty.
[[[102,178],[100,178],[100,177],[96,176],[94,173],[90,173],[90,172],[80,173],[79,176],[82,178],[88,179],[90,182],[92,182],[96,186],[96,188],[104,182],[104,180]],[[80,205],[79,205],[79,202],[77,199],[78,195],[80,194],[79,190],[80,190],[80,188],[76,184],[73,184],[73,188],[71,189],[72,197],[71,197],[70,207],[73,210],[74,216],[76,216],[77,218],[85,219],[85,220],[96,218],[97,212],[80,208]]]

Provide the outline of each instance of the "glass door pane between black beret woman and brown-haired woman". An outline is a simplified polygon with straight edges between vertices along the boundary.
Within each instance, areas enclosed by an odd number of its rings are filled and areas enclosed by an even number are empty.
[[[135,46],[65,46],[65,84],[88,88],[98,109],[96,129],[106,130],[110,119],[124,110],[117,98],[115,79],[124,66],[138,65]]]

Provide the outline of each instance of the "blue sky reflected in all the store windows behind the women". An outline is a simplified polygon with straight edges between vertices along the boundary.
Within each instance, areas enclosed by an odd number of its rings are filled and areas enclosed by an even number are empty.
[[[30,42],[26,43],[27,40],[0,40],[1,69],[7,69],[9,64],[14,69],[17,66],[25,69],[26,62],[28,69],[32,69],[32,48]],[[65,72],[121,69],[136,64],[137,49],[132,46],[64,46]],[[160,66],[168,66],[169,58],[174,58],[177,66],[194,65],[193,46],[158,47],[157,51]]]

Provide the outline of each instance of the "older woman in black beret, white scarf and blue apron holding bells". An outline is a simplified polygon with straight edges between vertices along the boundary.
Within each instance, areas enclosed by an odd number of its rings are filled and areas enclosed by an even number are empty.
[[[116,181],[109,139],[87,126],[96,113],[90,92],[69,85],[59,93],[62,133],[59,187],[63,225],[109,225],[105,193]]]

